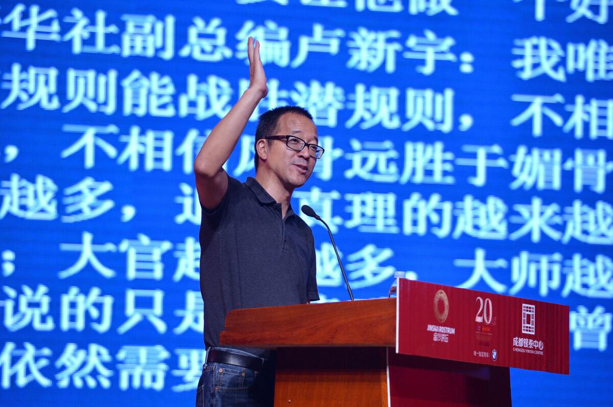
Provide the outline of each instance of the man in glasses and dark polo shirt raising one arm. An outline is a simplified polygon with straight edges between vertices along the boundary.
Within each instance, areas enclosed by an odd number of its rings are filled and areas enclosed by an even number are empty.
[[[222,168],[268,93],[259,42],[251,37],[248,56],[249,88],[208,135],[194,162],[202,205],[200,292],[207,346],[197,406],[273,403],[273,352],[220,347],[219,332],[230,310],[319,299],[313,232],[290,205],[292,192],[308,180],[323,153],[310,113],[281,107],[261,116],[256,178],[240,183]]]

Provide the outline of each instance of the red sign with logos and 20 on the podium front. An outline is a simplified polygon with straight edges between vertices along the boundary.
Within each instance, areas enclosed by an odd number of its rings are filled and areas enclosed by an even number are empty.
[[[401,278],[396,352],[568,375],[568,306]]]

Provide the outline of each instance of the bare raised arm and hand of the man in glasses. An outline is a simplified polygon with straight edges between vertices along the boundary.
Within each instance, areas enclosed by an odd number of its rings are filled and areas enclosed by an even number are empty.
[[[249,117],[257,104],[268,94],[266,75],[260,59],[260,43],[248,39],[249,88],[230,109],[230,112],[213,128],[200,148],[194,161],[196,188],[202,206],[215,209],[227,190],[227,175],[222,168],[230,157]]]

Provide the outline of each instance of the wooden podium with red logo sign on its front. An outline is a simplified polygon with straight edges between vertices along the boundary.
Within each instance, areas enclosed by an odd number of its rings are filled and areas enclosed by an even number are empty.
[[[510,406],[509,367],[568,374],[568,341],[568,306],[409,280],[397,299],[230,311],[221,332],[277,350],[275,406]]]

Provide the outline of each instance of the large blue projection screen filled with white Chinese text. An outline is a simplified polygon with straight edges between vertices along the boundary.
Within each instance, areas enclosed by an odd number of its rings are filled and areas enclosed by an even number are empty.
[[[292,207],[358,299],[408,278],[570,306],[569,376],[613,405],[611,0],[3,0],[0,404],[192,405],[205,357],[192,162],[249,83],[326,153]],[[313,227],[322,301],[347,300]]]

